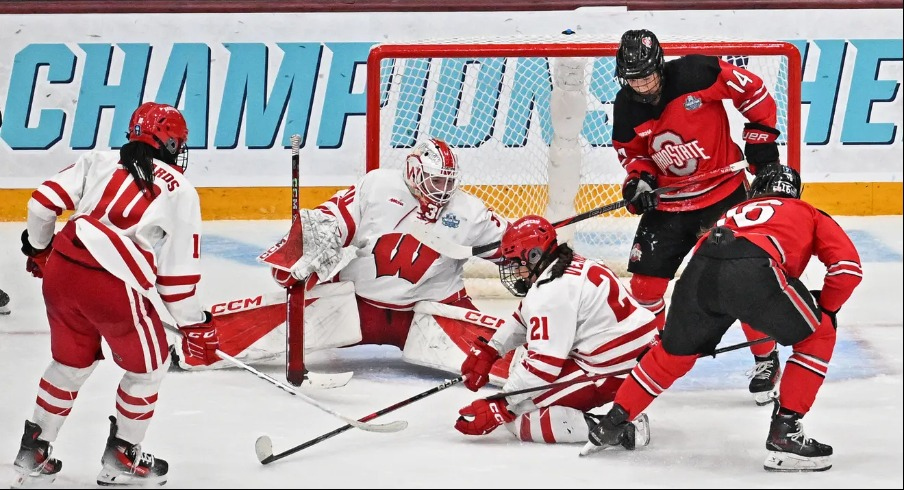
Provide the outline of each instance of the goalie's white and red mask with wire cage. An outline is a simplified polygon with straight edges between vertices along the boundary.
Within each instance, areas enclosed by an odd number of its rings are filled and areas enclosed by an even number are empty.
[[[458,175],[458,157],[436,138],[417,145],[405,162],[405,183],[432,220],[458,190]]]

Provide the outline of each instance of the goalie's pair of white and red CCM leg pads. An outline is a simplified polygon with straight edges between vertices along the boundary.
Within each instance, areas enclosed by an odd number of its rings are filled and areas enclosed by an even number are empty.
[[[211,306],[217,317],[220,350],[248,364],[282,362],[284,359],[286,299],[282,292],[239,298]],[[502,319],[477,310],[433,302],[414,308],[402,359],[419,366],[460,374],[471,344],[478,337],[489,338]],[[361,323],[354,285],[340,281],[318,284],[305,299],[304,351],[350,347],[362,340]],[[181,352],[178,342],[172,352]],[[490,372],[490,383],[502,386],[511,360],[521,349],[503,357]],[[232,367],[226,361],[200,366],[173,355],[182,370]]]

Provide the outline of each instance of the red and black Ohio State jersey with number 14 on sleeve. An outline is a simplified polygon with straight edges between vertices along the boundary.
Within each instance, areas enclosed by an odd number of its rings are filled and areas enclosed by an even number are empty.
[[[763,80],[717,57],[689,55],[669,61],[662,83],[662,98],[655,106],[634,100],[629,87],[615,97],[612,145],[629,177],[648,172],[665,187],[742,160],[723,100],[730,100],[749,121],[775,127],[775,99]],[[744,178],[743,172],[723,174],[663,194],[658,209],[709,206],[731,194]]]

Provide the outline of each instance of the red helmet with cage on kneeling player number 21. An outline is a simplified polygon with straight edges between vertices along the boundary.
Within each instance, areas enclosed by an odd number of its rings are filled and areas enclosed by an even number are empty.
[[[525,216],[505,231],[499,248],[503,257],[499,280],[509,292],[523,297],[555,258],[556,229],[542,216]]]

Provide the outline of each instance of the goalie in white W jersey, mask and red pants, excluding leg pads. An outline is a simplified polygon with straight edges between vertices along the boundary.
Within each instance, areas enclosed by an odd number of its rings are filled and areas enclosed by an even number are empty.
[[[317,208],[304,210],[305,256],[292,268],[289,281],[312,272],[329,277],[340,249],[354,247],[355,258],[338,278],[355,285],[360,344],[404,349],[419,301],[476,310],[464,286],[465,261],[440,255],[406,233],[427,224],[458,243],[499,241],[508,222],[462,192],[459,180],[455,153],[445,142],[429,139],[408,156],[404,174],[372,170]],[[498,257],[498,250],[484,256]]]

